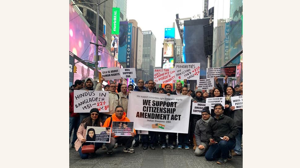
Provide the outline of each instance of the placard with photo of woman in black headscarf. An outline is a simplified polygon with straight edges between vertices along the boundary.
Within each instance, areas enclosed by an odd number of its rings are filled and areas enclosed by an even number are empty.
[[[87,126],[85,139],[87,142],[109,142],[110,127],[92,127]]]

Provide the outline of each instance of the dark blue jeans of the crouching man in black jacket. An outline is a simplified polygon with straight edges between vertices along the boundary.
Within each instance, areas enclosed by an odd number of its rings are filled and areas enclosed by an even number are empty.
[[[235,146],[235,141],[233,140],[229,140],[229,141],[221,140],[217,144],[210,145],[208,151],[205,154],[205,158],[206,160],[210,160],[210,161],[218,159],[220,157],[228,158],[229,151],[231,152],[234,146]]]

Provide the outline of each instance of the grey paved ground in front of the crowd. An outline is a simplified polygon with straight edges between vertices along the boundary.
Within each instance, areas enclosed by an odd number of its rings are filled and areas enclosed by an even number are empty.
[[[134,141],[133,141],[134,142]],[[191,149],[165,149],[155,146],[155,150],[143,150],[143,147],[135,147],[135,153],[123,152],[123,147],[114,149],[114,153],[106,154],[106,150],[96,151],[97,156],[90,159],[81,159],[74,148],[69,150],[70,168],[242,168],[242,156],[234,156],[233,160],[225,165],[219,165],[216,161],[206,161],[204,156],[195,156]]]

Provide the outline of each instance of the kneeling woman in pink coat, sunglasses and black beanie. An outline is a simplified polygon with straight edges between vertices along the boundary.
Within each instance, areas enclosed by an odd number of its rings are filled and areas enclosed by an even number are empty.
[[[92,158],[96,155],[96,150],[98,150],[102,146],[102,142],[86,142],[87,140],[84,138],[87,132],[88,126],[96,126],[101,127],[101,119],[98,118],[99,110],[94,108],[90,111],[90,116],[87,118],[84,118],[79,125],[78,131],[77,131],[77,137],[78,139],[75,141],[75,150],[79,152],[79,155],[82,159]],[[95,132],[93,130],[89,129],[88,138],[92,139],[95,136]],[[93,135],[92,135],[93,134]],[[89,140],[88,140],[89,141]],[[81,153],[81,146],[83,145],[94,145],[95,144],[95,152],[92,154],[83,154]]]

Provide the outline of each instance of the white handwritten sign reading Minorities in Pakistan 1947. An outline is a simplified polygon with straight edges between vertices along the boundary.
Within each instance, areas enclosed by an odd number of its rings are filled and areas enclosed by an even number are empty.
[[[200,78],[200,63],[175,64],[175,80],[198,80]]]

